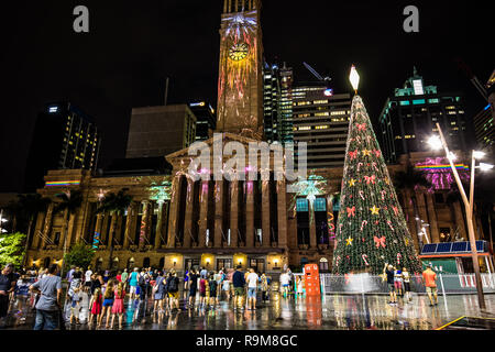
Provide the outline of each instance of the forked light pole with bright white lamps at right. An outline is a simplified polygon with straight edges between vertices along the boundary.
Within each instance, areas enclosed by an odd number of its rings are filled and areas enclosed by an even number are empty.
[[[469,232],[470,243],[471,243],[471,254],[472,254],[472,258],[473,258],[474,275],[476,278],[477,301],[480,305],[480,309],[484,310],[486,306],[485,306],[485,298],[483,295],[483,283],[482,283],[482,278],[481,278],[481,274],[480,274],[480,261],[479,261],[479,256],[477,256],[476,239],[474,237],[474,226],[473,226],[473,206],[474,206],[474,201],[473,201],[474,197],[473,196],[474,196],[474,175],[475,175],[474,170],[476,168],[476,158],[483,157],[484,153],[475,152],[475,151],[472,152],[470,199],[468,200],[468,197],[464,191],[464,187],[462,186],[462,183],[461,183],[461,178],[459,177],[458,169],[455,168],[455,165],[453,163],[455,160],[455,155],[453,155],[449,151],[449,146],[447,145],[447,141],[443,136],[443,132],[442,132],[439,123],[437,123],[437,129],[440,134],[440,139],[438,136],[432,136],[428,143],[433,148],[437,148],[437,150],[439,150],[441,147],[444,148],[447,158],[449,160],[449,163],[450,163],[450,167],[452,168],[452,173],[455,177],[455,183],[458,184],[459,191],[461,193],[462,200],[464,201],[464,209],[465,209],[466,220],[468,220],[468,232]],[[487,170],[490,168],[493,168],[493,165],[482,163],[479,166],[479,168],[481,168],[483,170]]]

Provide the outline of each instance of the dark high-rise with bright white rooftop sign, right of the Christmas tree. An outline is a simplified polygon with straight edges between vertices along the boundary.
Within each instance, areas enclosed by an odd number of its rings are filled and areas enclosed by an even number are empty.
[[[463,97],[459,92],[439,92],[425,86],[416,67],[413,77],[396,88],[380,114],[382,151],[388,163],[402,154],[427,152],[428,138],[440,123],[451,150],[465,150],[469,143]]]

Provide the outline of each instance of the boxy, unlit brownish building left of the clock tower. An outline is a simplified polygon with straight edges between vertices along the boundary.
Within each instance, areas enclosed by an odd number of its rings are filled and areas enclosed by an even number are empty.
[[[161,157],[196,141],[196,116],[187,105],[132,109],[127,158]]]

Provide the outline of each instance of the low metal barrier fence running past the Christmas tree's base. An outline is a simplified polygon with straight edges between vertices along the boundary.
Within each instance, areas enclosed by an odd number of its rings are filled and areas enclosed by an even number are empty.
[[[481,274],[483,292],[495,293],[495,274]],[[322,294],[388,294],[387,282],[380,275],[351,274],[331,275],[320,274]],[[474,274],[437,275],[439,295],[442,294],[475,294],[476,280]],[[426,294],[421,275],[411,275],[410,290],[416,294]]]

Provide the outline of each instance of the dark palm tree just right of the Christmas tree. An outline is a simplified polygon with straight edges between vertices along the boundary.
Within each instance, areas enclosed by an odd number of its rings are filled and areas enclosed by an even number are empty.
[[[408,165],[405,172],[398,172],[394,176],[394,185],[397,193],[404,196],[404,205],[407,206],[408,199],[413,202],[415,219],[419,219],[418,202],[416,199],[415,189],[430,188],[431,183],[425,178],[421,172],[415,169],[413,165]],[[419,232],[419,223],[416,221],[417,231]]]

